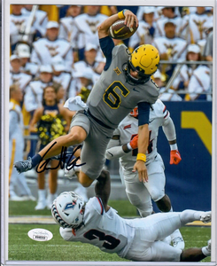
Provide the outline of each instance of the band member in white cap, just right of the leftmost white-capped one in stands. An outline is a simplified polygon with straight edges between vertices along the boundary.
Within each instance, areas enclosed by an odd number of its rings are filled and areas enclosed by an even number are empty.
[[[26,74],[31,74],[32,77],[35,77],[35,75],[37,75],[39,72],[39,66],[29,62],[31,55],[29,45],[26,43],[18,43],[15,51],[21,62],[21,71]]]

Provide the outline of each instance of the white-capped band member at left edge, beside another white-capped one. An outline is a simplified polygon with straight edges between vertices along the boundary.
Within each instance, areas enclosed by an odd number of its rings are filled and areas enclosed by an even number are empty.
[[[19,56],[13,54],[10,58],[10,61],[10,85],[17,83],[19,88],[24,92],[28,83],[31,82],[32,76],[21,72],[21,59]]]

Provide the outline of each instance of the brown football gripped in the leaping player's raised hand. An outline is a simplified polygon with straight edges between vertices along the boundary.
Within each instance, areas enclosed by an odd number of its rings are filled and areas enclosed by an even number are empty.
[[[108,34],[113,39],[117,40],[125,40],[131,37],[136,33],[136,21],[134,21],[133,27],[127,27],[124,24],[124,20],[117,20],[112,24],[112,26],[109,28]]]

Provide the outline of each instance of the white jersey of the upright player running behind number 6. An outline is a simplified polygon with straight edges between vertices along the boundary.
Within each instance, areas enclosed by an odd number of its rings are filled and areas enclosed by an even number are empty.
[[[161,102],[160,99],[151,106],[150,118],[149,118],[149,131],[150,139],[148,151],[146,153],[146,165],[150,163],[157,155],[157,138],[159,135],[159,127],[163,125],[164,121],[170,117],[166,106]],[[120,145],[127,144],[134,136],[138,134],[138,120],[128,114],[123,119],[118,128],[114,130],[113,135],[120,136]],[[126,153],[126,155],[120,157],[120,164],[127,170],[132,170],[136,163],[137,149]]]

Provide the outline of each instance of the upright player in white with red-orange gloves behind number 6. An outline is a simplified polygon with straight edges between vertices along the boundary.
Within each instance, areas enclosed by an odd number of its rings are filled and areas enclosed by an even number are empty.
[[[149,146],[146,152],[146,168],[149,182],[141,183],[138,174],[133,172],[137,154],[138,112],[137,107],[124,118],[117,129],[114,130],[105,157],[108,160],[120,158],[120,176],[126,186],[128,200],[136,206],[140,215],[146,217],[153,212],[151,199],[155,201],[161,212],[172,212],[173,207],[165,193],[166,176],[164,162],[157,152],[159,127],[167,137],[170,145],[170,164],[178,164],[181,160],[174,122],[160,99],[151,106],[149,121]],[[184,242],[179,230],[171,235],[173,246],[184,249]]]

